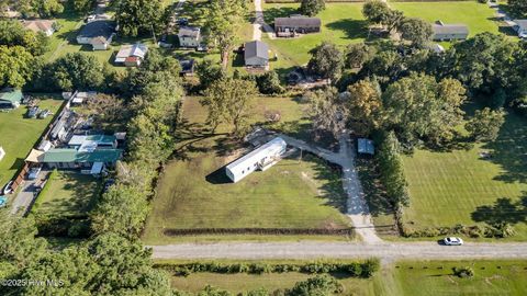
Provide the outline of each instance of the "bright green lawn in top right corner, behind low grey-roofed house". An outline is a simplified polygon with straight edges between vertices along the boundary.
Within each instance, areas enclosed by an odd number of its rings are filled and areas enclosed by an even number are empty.
[[[391,2],[390,7],[403,11],[406,16],[421,18],[430,23],[440,20],[447,24],[466,24],[469,26],[470,36],[500,31],[494,20],[495,11],[486,3],[476,1]]]

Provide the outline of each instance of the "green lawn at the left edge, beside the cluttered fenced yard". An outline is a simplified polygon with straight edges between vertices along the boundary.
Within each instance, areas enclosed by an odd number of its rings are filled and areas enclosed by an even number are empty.
[[[49,96],[37,96],[41,109],[48,109],[56,113],[64,100],[54,100]],[[0,112],[0,146],[5,150],[5,157],[0,160],[0,185],[3,186],[24,166],[24,159],[36,144],[53,116],[45,119],[30,119],[25,117],[27,109],[21,105],[10,112]]]

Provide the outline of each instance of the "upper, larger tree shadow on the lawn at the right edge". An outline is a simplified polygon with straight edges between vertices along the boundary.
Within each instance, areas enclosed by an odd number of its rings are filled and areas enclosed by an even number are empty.
[[[505,116],[496,140],[486,143],[483,149],[492,151],[489,161],[502,168],[494,180],[506,183],[527,183],[527,121],[517,114]]]

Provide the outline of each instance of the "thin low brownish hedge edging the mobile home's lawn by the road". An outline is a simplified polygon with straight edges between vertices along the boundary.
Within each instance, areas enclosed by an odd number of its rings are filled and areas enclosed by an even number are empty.
[[[198,235],[309,235],[309,236],[354,236],[352,228],[195,228],[195,229],[165,229],[166,236],[198,236]]]

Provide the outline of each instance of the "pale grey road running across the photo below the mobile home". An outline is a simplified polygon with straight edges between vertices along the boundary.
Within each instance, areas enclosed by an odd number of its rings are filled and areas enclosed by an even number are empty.
[[[527,243],[466,243],[459,247],[437,242],[234,242],[154,246],[155,259],[527,259]]]

